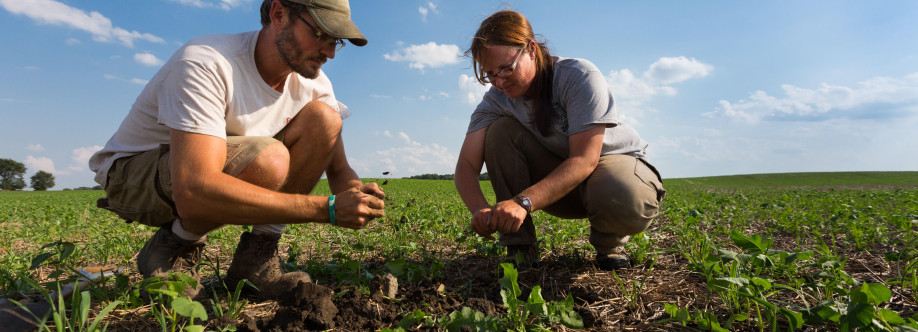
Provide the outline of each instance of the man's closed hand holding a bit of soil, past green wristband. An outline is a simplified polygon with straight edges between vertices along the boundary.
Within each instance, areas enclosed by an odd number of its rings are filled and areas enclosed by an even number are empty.
[[[361,187],[364,189],[363,187],[366,186]],[[377,186],[376,189],[378,190],[379,187]],[[378,191],[382,193],[382,190]],[[357,190],[357,188],[351,188],[335,196],[335,220],[338,226],[361,229],[370,220],[386,215],[383,210],[384,206],[382,199]]]

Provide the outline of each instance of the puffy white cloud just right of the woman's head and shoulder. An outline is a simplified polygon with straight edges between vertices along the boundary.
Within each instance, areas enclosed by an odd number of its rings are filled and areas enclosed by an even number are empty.
[[[651,64],[640,76],[629,69],[613,70],[606,76],[606,80],[612,88],[616,108],[623,115],[633,118],[653,111],[646,104],[654,97],[676,95],[678,91],[671,84],[707,76],[712,70],[714,66],[694,58],[663,57]]]

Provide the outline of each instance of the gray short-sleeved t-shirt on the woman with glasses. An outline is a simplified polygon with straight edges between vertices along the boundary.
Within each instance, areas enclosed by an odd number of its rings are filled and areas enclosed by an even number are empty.
[[[626,154],[644,158],[647,142],[637,131],[622,122],[615,113],[612,89],[606,78],[593,63],[584,59],[555,57],[552,83],[552,135],[543,137],[532,118],[532,99],[510,98],[491,87],[472,113],[469,129],[472,133],[488,127],[497,119],[511,116],[535,134],[542,144],[554,154],[567,158],[570,151],[568,137],[605,124],[602,154]]]

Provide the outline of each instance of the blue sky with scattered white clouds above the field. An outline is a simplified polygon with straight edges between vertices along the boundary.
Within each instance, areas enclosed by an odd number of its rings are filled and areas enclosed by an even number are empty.
[[[86,161],[189,39],[260,0],[0,0],[0,158],[93,186]],[[323,70],[363,177],[452,173],[485,91],[462,56],[512,8],[596,64],[664,178],[918,170],[915,1],[352,1],[369,39]]]

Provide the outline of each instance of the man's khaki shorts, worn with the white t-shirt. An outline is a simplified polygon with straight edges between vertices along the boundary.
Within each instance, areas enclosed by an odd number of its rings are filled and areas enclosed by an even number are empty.
[[[283,133],[281,131],[274,138],[227,137],[223,172],[238,175],[262,150],[282,141]],[[96,201],[96,205],[114,212],[127,222],[159,227],[178,218],[172,199],[168,144],[115,160],[108,170],[108,182],[104,189],[106,197]]]

